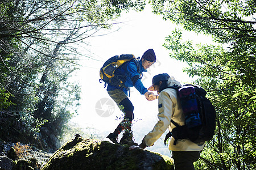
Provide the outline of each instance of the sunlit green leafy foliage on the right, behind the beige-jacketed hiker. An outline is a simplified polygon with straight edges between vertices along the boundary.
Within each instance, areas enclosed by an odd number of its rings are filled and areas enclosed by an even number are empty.
[[[217,45],[182,41],[175,29],[164,46],[170,56],[208,90],[217,110],[215,138],[207,143],[197,169],[255,169],[256,2],[150,1],[155,14],[186,31],[211,35]]]

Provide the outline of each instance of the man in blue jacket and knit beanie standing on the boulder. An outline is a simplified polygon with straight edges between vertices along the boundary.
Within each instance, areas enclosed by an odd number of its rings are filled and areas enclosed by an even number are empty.
[[[122,80],[126,88],[108,84],[107,91],[125,116],[114,132],[108,135],[107,138],[109,138],[110,141],[118,143],[118,135],[125,130],[120,143],[127,145],[137,144],[133,141],[133,134],[131,133],[131,122],[134,119],[134,106],[127,97],[127,88],[134,86],[147,100],[154,100],[154,97],[150,95],[152,92],[148,92],[147,88],[143,86],[141,75],[142,72],[146,72],[155,61],[156,56],[154,50],[148,49],[144,52],[141,60],[139,60],[138,67],[135,62],[126,62],[115,71],[115,76],[119,75],[119,79]]]

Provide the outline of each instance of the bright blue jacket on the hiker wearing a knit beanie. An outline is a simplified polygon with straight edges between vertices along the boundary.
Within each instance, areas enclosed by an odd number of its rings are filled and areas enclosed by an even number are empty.
[[[142,60],[139,60],[139,72],[137,71],[137,66],[134,62],[130,61],[121,65],[116,71],[115,76],[118,76],[122,82],[125,83],[126,87],[135,87],[142,95],[147,92],[147,88],[143,86],[141,79],[139,76],[142,72],[147,72],[142,66]],[[125,76],[123,76],[125,75]],[[127,89],[123,87],[113,86],[112,84],[108,84],[107,91],[112,91],[115,89],[122,90],[127,95]]]

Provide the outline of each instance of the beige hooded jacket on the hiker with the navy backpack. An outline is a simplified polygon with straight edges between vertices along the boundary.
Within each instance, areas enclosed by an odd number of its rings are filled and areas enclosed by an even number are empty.
[[[174,84],[180,85],[180,83],[173,77],[170,77],[168,79],[168,86],[173,86]],[[172,88],[166,88],[160,92],[158,101],[159,121],[156,123],[153,130],[143,138],[142,141],[146,146],[154,145],[155,141],[162,136],[167,128],[169,128],[170,131],[175,128],[175,125],[171,124],[171,119],[177,122],[180,126],[184,125],[185,118],[182,114],[180,100],[177,99],[177,92]],[[171,137],[171,140],[169,141],[169,150],[171,151],[201,151],[205,145],[204,143],[199,146],[189,139],[180,139],[177,141],[176,145],[174,145],[173,137]]]

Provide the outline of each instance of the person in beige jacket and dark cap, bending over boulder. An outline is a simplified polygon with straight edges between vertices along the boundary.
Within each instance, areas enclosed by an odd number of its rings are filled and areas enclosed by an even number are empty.
[[[171,119],[177,122],[180,126],[185,124],[185,117],[181,109],[180,100],[177,97],[177,92],[170,86],[180,85],[174,77],[168,74],[158,74],[152,79],[152,86],[148,88],[151,91],[157,91],[159,96],[154,96],[158,101],[158,118],[159,121],[155,124],[154,128],[142,140],[139,146],[131,146],[130,150],[134,148],[144,149],[148,146],[154,145],[164,131],[169,128],[170,131],[175,128],[171,123]],[[203,145],[197,145],[189,139],[178,139],[174,145],[174,138],[169,140],[169,150],[174,159],[175,169],[195,169],[193,162],[199,159],[200,152],[203,150]]]

